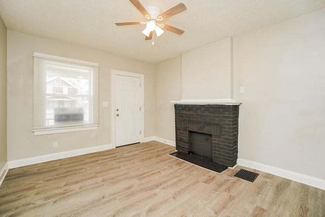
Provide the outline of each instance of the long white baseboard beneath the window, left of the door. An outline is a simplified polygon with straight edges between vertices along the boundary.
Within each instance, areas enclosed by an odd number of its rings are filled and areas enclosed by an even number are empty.
[[[9,169],[13,169],[13,168],[17,168],[17,167],[23,167],[23,166],[32,165],[32,164],[54,161],[54,160],[59,160],[59,159],[63,159],[63,158],[70,158],[70,157],[75,157],[75,156],[79,156],[82,154],[104,151],[104,150],[108,150],[108,149],[112,149],[112,144],[76,149],[76,150],[71,150],[71,151],[63,151],[63,152],[33,157],[33,158],[25,158],[25,159],[20,159],[20,160],[15,160],[15,161],[9,161],[8,167],[9,167]]]

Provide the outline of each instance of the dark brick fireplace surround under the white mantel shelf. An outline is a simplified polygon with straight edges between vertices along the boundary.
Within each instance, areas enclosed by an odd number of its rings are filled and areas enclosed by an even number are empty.
[[[212,162],[226,167],[237,163],[239,105],[175,104],[176,149],[191,154],[191,133],[212,136]]]

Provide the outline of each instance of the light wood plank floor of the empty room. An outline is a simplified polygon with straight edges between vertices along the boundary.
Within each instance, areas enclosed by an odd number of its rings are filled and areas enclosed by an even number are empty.
[[[325,191],[259,171],[252,183],[234,177],[241,167],[220,175],[174,149],[147,142],[11,169],[0,216],[325,216]]]

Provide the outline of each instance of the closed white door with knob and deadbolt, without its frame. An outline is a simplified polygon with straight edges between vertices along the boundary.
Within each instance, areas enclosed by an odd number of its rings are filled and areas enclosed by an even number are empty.
[[[140,78],[115,75],[115,143],[117,146],[141,140]]]

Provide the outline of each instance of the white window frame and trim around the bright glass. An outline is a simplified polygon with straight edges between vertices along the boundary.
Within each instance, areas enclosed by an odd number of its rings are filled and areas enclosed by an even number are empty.
[[[77,131],[87,131],[87,130],[97,130],[99,127],[99,64],[92,63],[89,61],[72,59],[61,56],[54,56],[44,53],[34,52],[34,83],[33,83],[33,128],[32,132],[34,132],[35,136],[38,135],[46,135],[46,134],[56,134],[56,133],[68,133],[68,132],[77,132]],[[44,125],[46,121],[46,100],[42,101],[42,96],[46,98],[46,93],[40,94],[40,89],[46,88],[46,75],[41,74],[44,73],[43,68],[40,65],[44,65],[45,61],[61,61],[64,64],[71,64],[72,66],[84,66],[87,68],[92,68],[92,84],[91,84],[91,96],[92,102],[89,102],[91,105],[91,113],[89,111],[89,115],[92,117],[91,123],[84,123],[83,125],[78,126],[50,126],[47,127]],[[41,64],[40,64],[41,63]],[[42,80],[40,78],[45,78]],[[44,91],[43,91],[44,92]],[[40,97],[41,96],[41,97]],[[42,117],[40,117],[42,116]],[[41,122],[43,121],[43,124]]]

